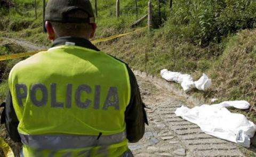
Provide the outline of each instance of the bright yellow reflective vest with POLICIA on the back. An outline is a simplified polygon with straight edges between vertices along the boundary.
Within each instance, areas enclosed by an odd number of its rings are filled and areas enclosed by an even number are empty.
[[[128,150],[126,65],[62,45],[21,61],[9,86],[24,156],[121,156]]]

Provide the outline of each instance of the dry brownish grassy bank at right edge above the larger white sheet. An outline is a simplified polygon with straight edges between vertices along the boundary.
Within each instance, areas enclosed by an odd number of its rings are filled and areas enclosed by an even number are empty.
[[[256,30],[243,30],[232,37],[208,73],[213,79],[209,94],[222,100],[249,101],[252,108],[244,114],[255,122]]]

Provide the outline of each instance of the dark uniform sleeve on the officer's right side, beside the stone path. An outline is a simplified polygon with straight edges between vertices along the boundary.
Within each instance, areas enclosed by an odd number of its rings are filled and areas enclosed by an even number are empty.
[[[138,142],[145,133],[145,123],[148,125],[145,104],[141,100],[140,89],[132,70],[126,65],[130,76],[131,100],[125,111],[126,133],[130,143]]]

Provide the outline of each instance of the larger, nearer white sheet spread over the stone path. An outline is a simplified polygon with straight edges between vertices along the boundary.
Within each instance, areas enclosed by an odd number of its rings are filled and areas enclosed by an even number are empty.
[[[239,103],[244,104],[239,105]],[[245,103],[245,101],[223,102],[216,105],[196,106],[193,109],[181,106],[175,111],[175,114],[195,123],[206,134],[250,147],[250,138],[254,136],[256,130],[254,123],[247,120],[243,114],[231,113],[223,107],[241,108],[245,104],[249,103]]]

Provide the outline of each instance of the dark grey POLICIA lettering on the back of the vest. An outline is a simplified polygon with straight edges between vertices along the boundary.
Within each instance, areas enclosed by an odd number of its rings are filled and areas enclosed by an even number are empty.
[[[56,92],[57,84],[52,83],[50,85],[50,100],[51,100],[51,107],[52,108],[71,108],[72,104],[72,90],[73,85],[67,84],[67,90],[66,90],[66,102],[58,102],[57,101],[57,92]],[[95,85],[94,87],[94,104],[93,108],[95,110],[100,109],[100,86]],[[47,90],[47,87],[44,84],[34,84],[30,87],[28,91],[28,87],[25,84],[15,84],[15,90],[17,95],[18,104],[22,107],[23,103],[22,100],[27,98],[28,93],[31,102],[33,105],[37,107],[42,107],[47,104],[49,101],[49,91]],[[40,93],[40,94],[38,94]],[[88,108],[92,101],[89,100],[89,98],[86,98],[85,101],[82,97],[82,94],[92,94],[92,88],[89,85],[79,85],[75,90],[75,104],[78,108],[86,109]],[[41,95],[41,96],[38,96]],[[38,98],[40,97],[40,98]],[[118,92],[117,87],[109,87],[105,103],[103,105],[103,110],[108,110],[109,107],[114,107],[115,110],[119,110],[119,100],[118,100]]]

